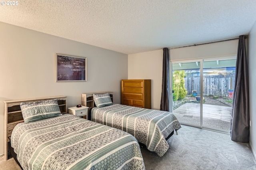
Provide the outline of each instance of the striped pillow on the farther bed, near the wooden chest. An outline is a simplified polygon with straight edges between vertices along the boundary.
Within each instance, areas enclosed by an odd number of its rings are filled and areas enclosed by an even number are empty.
[[[105,94],[92,94],[94,103],[97,107],[104,107],[112,105],[112,100],[110,98],[109,93]]]

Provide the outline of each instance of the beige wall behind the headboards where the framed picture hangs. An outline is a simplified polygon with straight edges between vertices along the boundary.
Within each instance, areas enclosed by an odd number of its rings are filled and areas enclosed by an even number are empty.
[[[87,57],[87,82],[56,82],[55,54]],[[4,153],[5,100],[113,91],[120,103],[121,79],[128,78],[128,55],[0,22],[0,155]]]

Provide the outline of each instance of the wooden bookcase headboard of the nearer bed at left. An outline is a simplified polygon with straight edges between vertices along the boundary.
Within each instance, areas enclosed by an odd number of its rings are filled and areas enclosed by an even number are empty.
[[[44,98],[32,98],[22,100],[4,101],[4,156],[8,159],[8,137],[11,136],[13,128],[21,122],[24,122],[20,103],[22,102],[40,102],[44,100],[58,99],[58,105],[62,114],[67,113],[66,96],[51,96]]]

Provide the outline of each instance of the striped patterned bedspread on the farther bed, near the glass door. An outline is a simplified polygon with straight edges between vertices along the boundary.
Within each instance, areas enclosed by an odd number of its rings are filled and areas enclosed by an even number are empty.
[[[169,149],[166,138],[181,128],[177,118],[168,111],[114,104],[94,107],[92,121],[121,129],[133,135],[147,149],[163,156]]]

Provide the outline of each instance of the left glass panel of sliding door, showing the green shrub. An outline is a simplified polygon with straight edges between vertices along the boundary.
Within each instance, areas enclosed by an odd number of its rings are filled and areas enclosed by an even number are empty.
[[[172,112],[185,125],[202,127],[200,61],[172,63]]]

